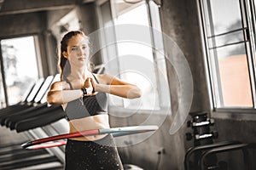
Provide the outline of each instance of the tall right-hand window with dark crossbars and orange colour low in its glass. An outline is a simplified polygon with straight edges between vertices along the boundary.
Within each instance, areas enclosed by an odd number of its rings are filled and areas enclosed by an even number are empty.
[[[214,108],[255,108],[252,1],[200,0],[200,4]]]

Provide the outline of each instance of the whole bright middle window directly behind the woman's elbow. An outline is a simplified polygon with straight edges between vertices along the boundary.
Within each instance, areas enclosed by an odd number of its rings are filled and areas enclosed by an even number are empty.
[[[109,105],[151,111],[169,108],[169,88],[161,83],[167,80],[163,42],[161,34],[154,35],[161,31],[158,6],[143,0],[98,2],[102,2],[98,13],[104,27],[101,37],[106,71],[143,91],[140,99],[109,96]]]

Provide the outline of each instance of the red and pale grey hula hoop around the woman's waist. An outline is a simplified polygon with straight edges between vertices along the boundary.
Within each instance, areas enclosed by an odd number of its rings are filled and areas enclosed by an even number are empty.
[[[55,141],[61,139],[69,139],[81,136],[92,136],[99,134],[113,134],[113,137],[125,136],[135,133],[147,133],[151,131],[156,131],[158,129],[155,125],[148,126],[133,126],[133,127],[113,127],[106,129],[95,129],[95,130],[85,130],[77,133],[64,133],[60,135],[51,136],[43,139],[36,139],[28,141],[21,144],[21,147],[27,150],[38,150],[42,148],[51,148],[55,146],[61,146],[67,144],[67,141]]]

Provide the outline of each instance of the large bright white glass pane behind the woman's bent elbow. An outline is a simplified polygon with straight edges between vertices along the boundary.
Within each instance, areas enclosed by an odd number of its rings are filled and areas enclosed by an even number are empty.
[[[116,24],[145,26],[143,37],[150,40],[151,34],[148,23],[148,10],[145,2],[133,5],[118,2],[115,3],[115,7],[117,13]],[[119,37],[123,37],[125,32],[127,33],[127,30],[116,30],[120,77],[137,84],[137,86],[142,89],[143,96],[140,99],[124,99],[124,106],[129,109],[137,109],[139,107],[144,110],[159,110],[160,101],[155,77],[156,73],[152,52],[153,45],[148,45],[146,42],[119,41]],[[132,34],[136,36],[136,33],[141,34],[142,32],[134,31]]]

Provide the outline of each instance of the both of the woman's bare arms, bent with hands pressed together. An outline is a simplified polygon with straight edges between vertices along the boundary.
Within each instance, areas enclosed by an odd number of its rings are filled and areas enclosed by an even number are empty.
[[[87,89],[89,95],[92,94],[92,88],[94,88],[95,92],[104,92],[128,99],[139,98],[142,95],[140,88],[137,88],[134,84],[121,81],[107,74],[96,75],[96,77],[101,82],[100,84],[89,77],[82,86]],[[47,102],[50,105],[62,105],[74,99],[79,99],[83,96],[83,91],[78,87],[76,87],[77,89],[71,90],[67,82],[54,82],[47,94]]]

